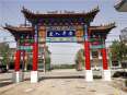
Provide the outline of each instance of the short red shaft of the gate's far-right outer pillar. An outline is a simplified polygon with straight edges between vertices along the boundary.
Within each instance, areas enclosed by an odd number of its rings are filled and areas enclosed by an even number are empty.
[[[102,49],[102,59],[103,59],[103,70],[107,70],[108,64],[107,64],[107,55],[105,48]]]

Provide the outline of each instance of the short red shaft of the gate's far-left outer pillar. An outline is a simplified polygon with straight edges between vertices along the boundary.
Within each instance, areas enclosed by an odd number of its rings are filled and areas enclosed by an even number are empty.
[[[21,51],[16,50],[16,52],[15,52],[15,66],[14,66],[15,71],[20,71],[20,60],[21,60]]]

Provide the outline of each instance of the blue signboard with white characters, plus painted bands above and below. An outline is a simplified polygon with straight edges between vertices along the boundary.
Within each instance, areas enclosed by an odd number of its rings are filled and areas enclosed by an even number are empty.
[[[51,26],[47,28],[47,43],[74,43],[76,31],[72,26]]]

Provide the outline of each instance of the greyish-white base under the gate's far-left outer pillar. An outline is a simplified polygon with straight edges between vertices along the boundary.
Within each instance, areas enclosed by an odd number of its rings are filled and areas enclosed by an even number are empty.
[[[13,72],[13,75],[12,75],[12,81],[14,83],[19,83],[19,82],[22,82],[23,81],[23,72],[22,71],[14,71]]]

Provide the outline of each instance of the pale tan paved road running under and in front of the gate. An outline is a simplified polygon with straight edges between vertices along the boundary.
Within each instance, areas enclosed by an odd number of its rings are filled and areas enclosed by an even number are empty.
[[[127,95],[127,93],[113,87],[112,82],[104,82],[103,80],[85,82],[82,78],[83,71],[55,70],[46,74],[41,72],[39,75],[43,78],[35,84],[31,84],[30,80],[11,83],[11,80],[8,79],[11,73],[4,73],[1,75],[2,78],[0,76],[0,84],[7,83],[7,85],[0,87],[0,95]],[[67,79],[56,78],[58,75],[67,76]],[[70,75],[74,78],[68,78]],[[27,78],[30,78],[30,73],[25,73],[25,79]]]

